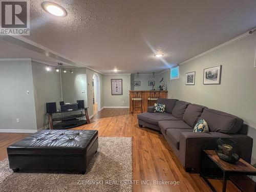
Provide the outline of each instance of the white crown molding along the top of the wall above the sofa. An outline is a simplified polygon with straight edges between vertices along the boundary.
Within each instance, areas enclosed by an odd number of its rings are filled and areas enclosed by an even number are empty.
[[[249,32],[246,32],[246,33],[244,33],[244,34],[242,34],[242,35],[239,35],[238,37],[232,38],[232,39],[230,39],[230,40],[224,42],[224,43],[221,44],[221,45],[218,45],[218,46],[216,46],[216,47],[214,47],[214,48],[211,48],[211,49],[209,49],[208,51],[205,51],[205,52],[203,52],[203,53],[201,53],[201,54],[199,54],[199,55],[197,55],[197,56],[195,56],[195,57],[192,57],[192,58],[190,58],[190,59],[187,59],[187,60],[185,60],[185,61],[179,63],[179,65],[183,65],[183,64],[185,64],[185,63],[187,63],[187,62],[189,62],[189,61],[191,61],[191,60],[197,59],[197,58],[202,57],[202,56],[204,56],[204,55],[206,55],[206,54],[208,54],[208,53],[211,53],[211,52],[213,52],[213,51],[216,51],[216,50],[218,50],[218,49],[221,49],[221,48],[223,48],[223,47],[225,47],[225,46],[227,46],[227,45],[232,44],[233,42],[235,42],[235,41],[237,41],[237,40],[243,39],[243,38],[248,37],[248,36],[250,36],[250,35],[251,35],[251,34],[249,34]]]

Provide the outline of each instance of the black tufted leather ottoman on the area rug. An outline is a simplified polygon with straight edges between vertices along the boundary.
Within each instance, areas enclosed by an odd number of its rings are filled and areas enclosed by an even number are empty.
[[[97,130],[42,130],[9,147],[10,168],[71,169],[86,173],[98,150]]]

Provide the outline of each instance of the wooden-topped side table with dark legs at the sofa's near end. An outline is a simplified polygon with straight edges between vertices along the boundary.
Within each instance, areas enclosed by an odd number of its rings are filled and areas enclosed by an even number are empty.
[[[214,166],[214,167],[212,167]],[[226,191],[227,180],[230,175],[256,175],[256,168],[243,159],[239,159],[236,164],[227,163],[221,160],[214,150],[203,150],[201,156],[200,176],[205,180],[212,191],[217,191],[208,181],[210,179],[220,179],[222,174],[222,191]],[[235,183],[234,183],[235,184]],[[256,188],[254,188],[256,191]]]

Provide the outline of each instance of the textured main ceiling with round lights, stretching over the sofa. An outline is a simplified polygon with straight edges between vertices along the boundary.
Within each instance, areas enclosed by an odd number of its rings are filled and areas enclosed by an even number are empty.
[[[256,26],[255,0],[53,1],[66,17],[30,2],[24,37],[102,73],[159,73]]]

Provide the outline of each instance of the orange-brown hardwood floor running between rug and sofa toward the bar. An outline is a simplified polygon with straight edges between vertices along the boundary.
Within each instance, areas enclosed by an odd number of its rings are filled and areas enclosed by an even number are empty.
[[[100,137],[132,137],[133,180],[179,181],[177,185],[136,184],[134,191],[211,191],[198,174],[186,173],[172,149],[158,132],[138,126],[137,115],[129,109],[103,109],[91,124],[74,129],[95,129]],[[0,134],[0,159],[7,157],[6,147],[28,134]],[[210,180],[222,191],[221,180]],[[240,191],[230,181],[229,192]]]

